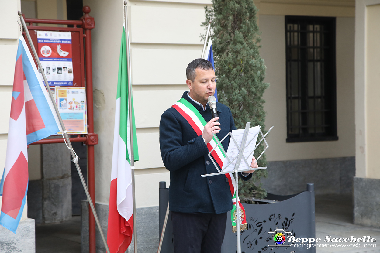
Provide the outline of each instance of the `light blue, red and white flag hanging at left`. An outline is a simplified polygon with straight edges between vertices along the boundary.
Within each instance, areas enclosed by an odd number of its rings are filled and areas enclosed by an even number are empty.
[[[14,70],[5,168],[0,182],[0,225],[16,233],[28,191],[27,145],[62,131],[24,38]]]

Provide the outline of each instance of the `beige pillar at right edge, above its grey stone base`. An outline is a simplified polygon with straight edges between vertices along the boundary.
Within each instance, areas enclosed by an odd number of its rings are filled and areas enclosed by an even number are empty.
[[[380,1],[356,1],[355,123],[356,177],[380,179],[379,67]]]

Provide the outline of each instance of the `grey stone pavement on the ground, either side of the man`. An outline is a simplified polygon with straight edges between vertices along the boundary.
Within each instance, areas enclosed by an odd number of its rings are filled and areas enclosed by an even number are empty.
[[[318,195],[315,198],[316,237],[322,244],[330,247],[317,248],[317,253],[380,253],[380,229],[352,224],[351,195]],[[331,238],[376,238],[376,247],[372,248],[336,248],[324,242],[326,236]],[[342,243],[345,244],[345,243]],[[297,252],[296,248],[293,249]],[[69,221],[57,224],[36,226],[36,253],[80,253],[81,252],[81,217],[73,216]],[[141,252],[144,253],[144,252]]]

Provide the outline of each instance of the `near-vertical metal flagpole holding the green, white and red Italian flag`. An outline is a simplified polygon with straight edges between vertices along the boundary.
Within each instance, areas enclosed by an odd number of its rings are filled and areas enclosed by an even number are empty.
[[[132,117],[132,78],[131,78],[131,51],[128,31],[128,9],[127,1],[124,1],[124,24],[125,24],[125,43],[127,47],[127,69],[128,69],[128,107],[129,107],[129,125],[130,125],[130,161],[132,174],[132,201],[133,201],[133,242],[135,253],[137,253],[137,226],[136,226],[136,196],[135,196],[135,158],[133,156],[133,117]]]

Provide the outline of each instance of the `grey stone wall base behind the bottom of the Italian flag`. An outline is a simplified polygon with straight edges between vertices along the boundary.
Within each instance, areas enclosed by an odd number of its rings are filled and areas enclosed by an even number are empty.
[[[95,209],[103,233],[107,238],[108,205],[95,203]],[[157,253],[159,240],[158,206],[138,208],[136,213],[138,252]],[[89,202],[84,200],[82,201],[81,248],[82,253],[89,252]],[[98,227],[96,227],[96,252],[106,252]],[[134,252],[133,238],[127,252]]]

